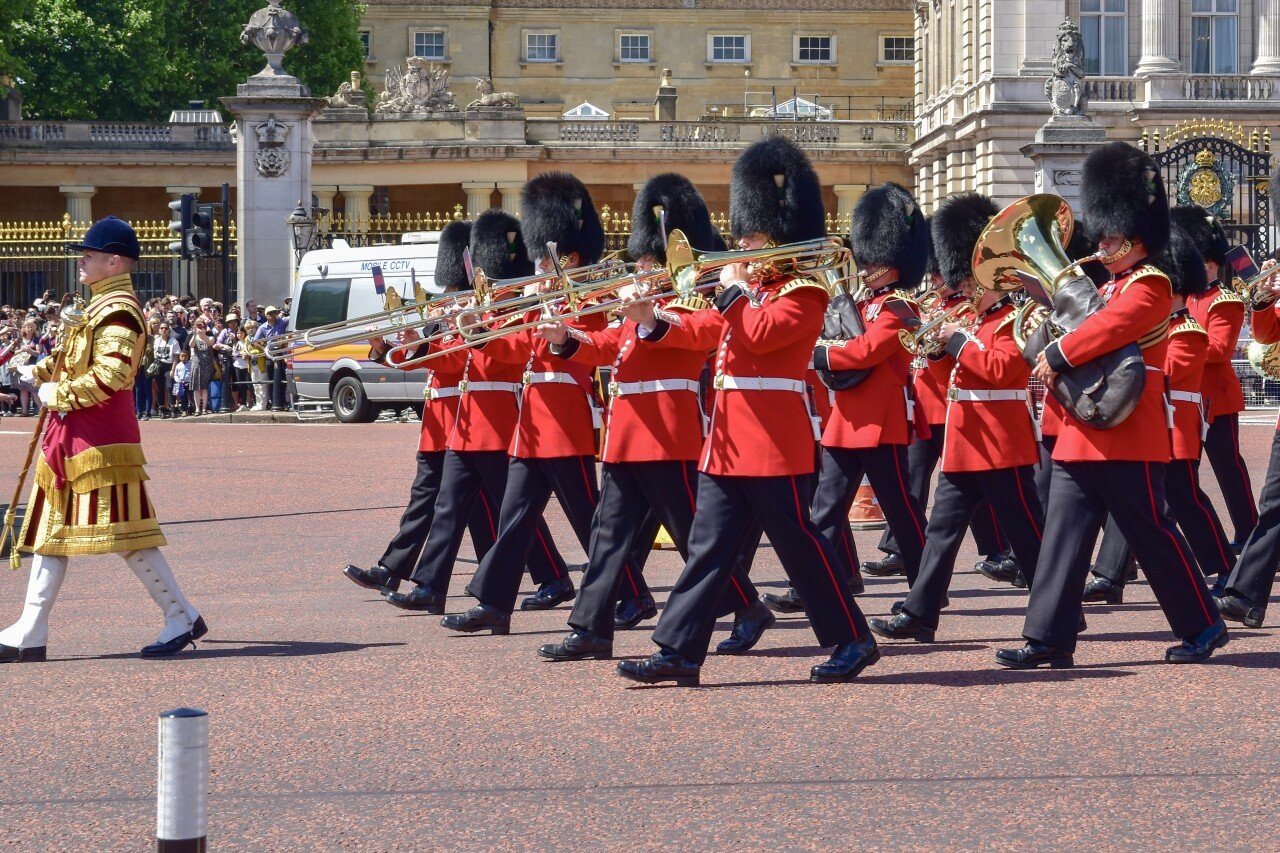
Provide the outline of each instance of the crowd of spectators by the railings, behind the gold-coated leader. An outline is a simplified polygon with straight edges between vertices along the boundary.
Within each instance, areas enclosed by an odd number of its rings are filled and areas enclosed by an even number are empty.
[[[138,419],[170,419],[220,411],[265,411],[270,407],[273,371],[283,364],[264,355],[265,338],[282,334],[291,300],[283,309],[243,306],[205,297],[160,296],[143,306],[147,334],[133,384]],[[0,306],[0,352],[14,350],[0,365],[0,415],[32,416],[40,401],[33,382],[18,365],[50,355],[58,341],[59,304],[51,291],[23,310]],[[12,394],[13,401],[5,402]]]

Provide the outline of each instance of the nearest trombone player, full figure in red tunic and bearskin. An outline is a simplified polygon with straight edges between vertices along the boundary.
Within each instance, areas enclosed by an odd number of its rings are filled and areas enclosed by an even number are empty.
[[[820,237],[820,199],[818,175],[794,142],[780,136],[755,142],[733,165],[730,184],[739,247],[759,251]],[[814,464],[805,371],[828,292],[786,272],[785,261],[728,264],[721,283],[714,309],[659,318],[640,304],[631,318],[643,329],[640,346],[714,350],[714,400],[689,560],[653,634],[659,651],[620,662],[618,675],[645,684],[699,683],[717,603],[742,542],[759,524],[805,601],[818,642],[836,647],[810,679],[847,681],[879,660],[879,651],[805,503]]]

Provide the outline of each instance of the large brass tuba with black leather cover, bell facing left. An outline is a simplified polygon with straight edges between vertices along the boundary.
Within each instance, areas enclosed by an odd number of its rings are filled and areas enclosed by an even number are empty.
[[[1059,196],[1027,196],[992,218],[974,246],[979,284],[997,292],[1027,287],[1032,296],[1014,320],[1015,339],[1029,364],[1105,305],[1097,286],[1080,272],[1080,264],[1100,255],[1073,261],[1062,248],[1074,225],[1070,205]],[[1076,420],[1108,429],[1138,407],[1146,380],[1142,350],[1129,342],[1057,374],[1050,391]]]

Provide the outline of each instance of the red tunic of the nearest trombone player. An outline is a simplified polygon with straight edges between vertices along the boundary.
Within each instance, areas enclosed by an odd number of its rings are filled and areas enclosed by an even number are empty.
[[[827,289],[791,277],[756,284],[759,307],[739,298],[723,315],[713,309],[677,315],[644,341],[699,353],[716,350],[712,419],[698,470],[721,476],[812,474],[815,438],[804,386]],[[760,378],[791,387],[726,387]]]

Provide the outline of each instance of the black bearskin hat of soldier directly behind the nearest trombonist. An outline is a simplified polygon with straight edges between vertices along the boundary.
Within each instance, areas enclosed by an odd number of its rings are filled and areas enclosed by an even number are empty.
[[[886,183],[858,200],[849,242],[859,266],[892,266],[899,287],[911,288],[924,277],[932,242],[929,231],[929,222],[911,193],[900,184]]]

